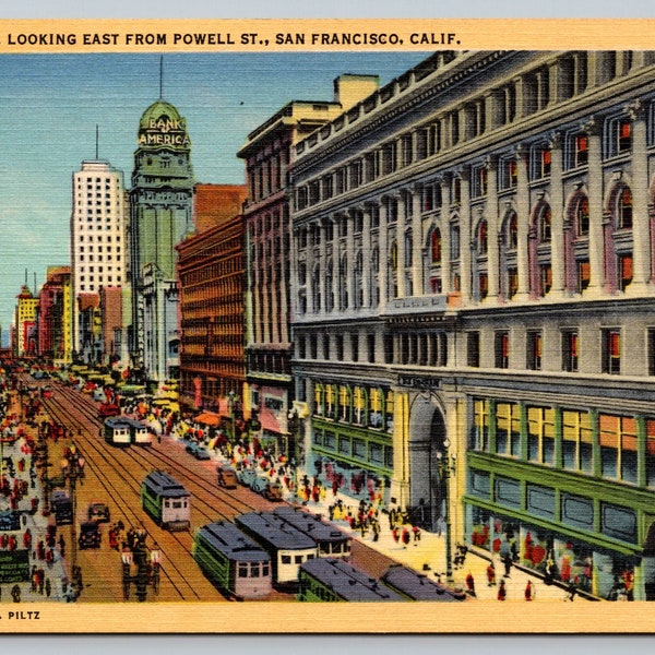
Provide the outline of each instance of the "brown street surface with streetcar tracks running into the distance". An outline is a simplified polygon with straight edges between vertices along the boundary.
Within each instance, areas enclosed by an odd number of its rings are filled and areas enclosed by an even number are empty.
[[[26,373],[22,378],[25,384],[34,384]],[[156,543],[164,553],[159,599],[225,600],[191,558],[193,533],[202,525],[217,520],[231,521],[238,514],[270,511],[276,505],[246,488],[228,490],[218,487],[215,461],[198,462],[175,440],[164,438],[159,445],[153,440],[152,446],[131,445],[127,449],[107,444],[100,436],[103,419],[98,416],[97,403],[73,388],[60,383],[50,386],[55,393],[48,398],[41,398],[44,409],[53,421],[72,430],[75,444],[86,460],[87,473],[95,476],[100,493],[105,493],[118,510],[112,515],[122,515],[126,527],[134,525],[145,529],[147,543]],[[192,528],[189,533],[163,531],[142,511],[139,502],[141,483],[153,469],[167,471],[191,491]],[[82,555],[102,572],[102,577],[96,585],[96,593],[85,592],[81,600],[107,600],[108,590],[116,599],[122,597],[118,553],[104,549],[84,551]],[[100,558],[105,558],[105,565],[102,565]],[[379,575],[393,563],[388,557],[357,539],[353,540],[350,561],[369,575]],[[110,584],[107,584],[106,577],[111,579]],[[99,597],[96,597],[98,590]],[[294,597],[288,593],[273,591],[269,599],[293,600]]]

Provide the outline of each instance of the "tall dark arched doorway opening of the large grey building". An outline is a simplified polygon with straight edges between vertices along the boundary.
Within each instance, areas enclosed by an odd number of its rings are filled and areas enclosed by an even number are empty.
[[[439,453],[446,438],[444,413],[437,396],[417,395],[412,403],[408,436],[410,521],[437,531],[444,516],[445,486],[439,475]]]

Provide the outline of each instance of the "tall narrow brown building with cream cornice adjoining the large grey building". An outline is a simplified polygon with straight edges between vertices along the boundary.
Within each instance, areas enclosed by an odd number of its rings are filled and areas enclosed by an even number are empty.
[[[290,368],[289,165],[295,144],[378,86],[368,75],[335,81],[332,102],[295,100],[248,135],[238,156],[246,163],[247,234],[246,403],[258,413],[261,441],[289,457],[295,452],[288,415]],[[344,105],[349,103],[349,105]]]

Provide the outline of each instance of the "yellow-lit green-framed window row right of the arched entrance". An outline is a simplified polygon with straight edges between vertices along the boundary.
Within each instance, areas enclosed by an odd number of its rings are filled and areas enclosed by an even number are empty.
[[[469,448],[655,487],[655,418],[476,398]]]

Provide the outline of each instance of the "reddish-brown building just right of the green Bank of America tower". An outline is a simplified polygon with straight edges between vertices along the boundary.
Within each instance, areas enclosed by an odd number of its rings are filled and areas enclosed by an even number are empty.
[[[233,188],[226,191],[230,204]],[[183,334],[180,402],[234,417],[234,410],[241,409],[246,379],[243,218],[241,214],[225,215],[221,207],[221,186],[199,186],[198,202],[206,206],[203,194],[217,203],[214,226],[177,246]],[[245,198],[242,187],[238,204]]]

